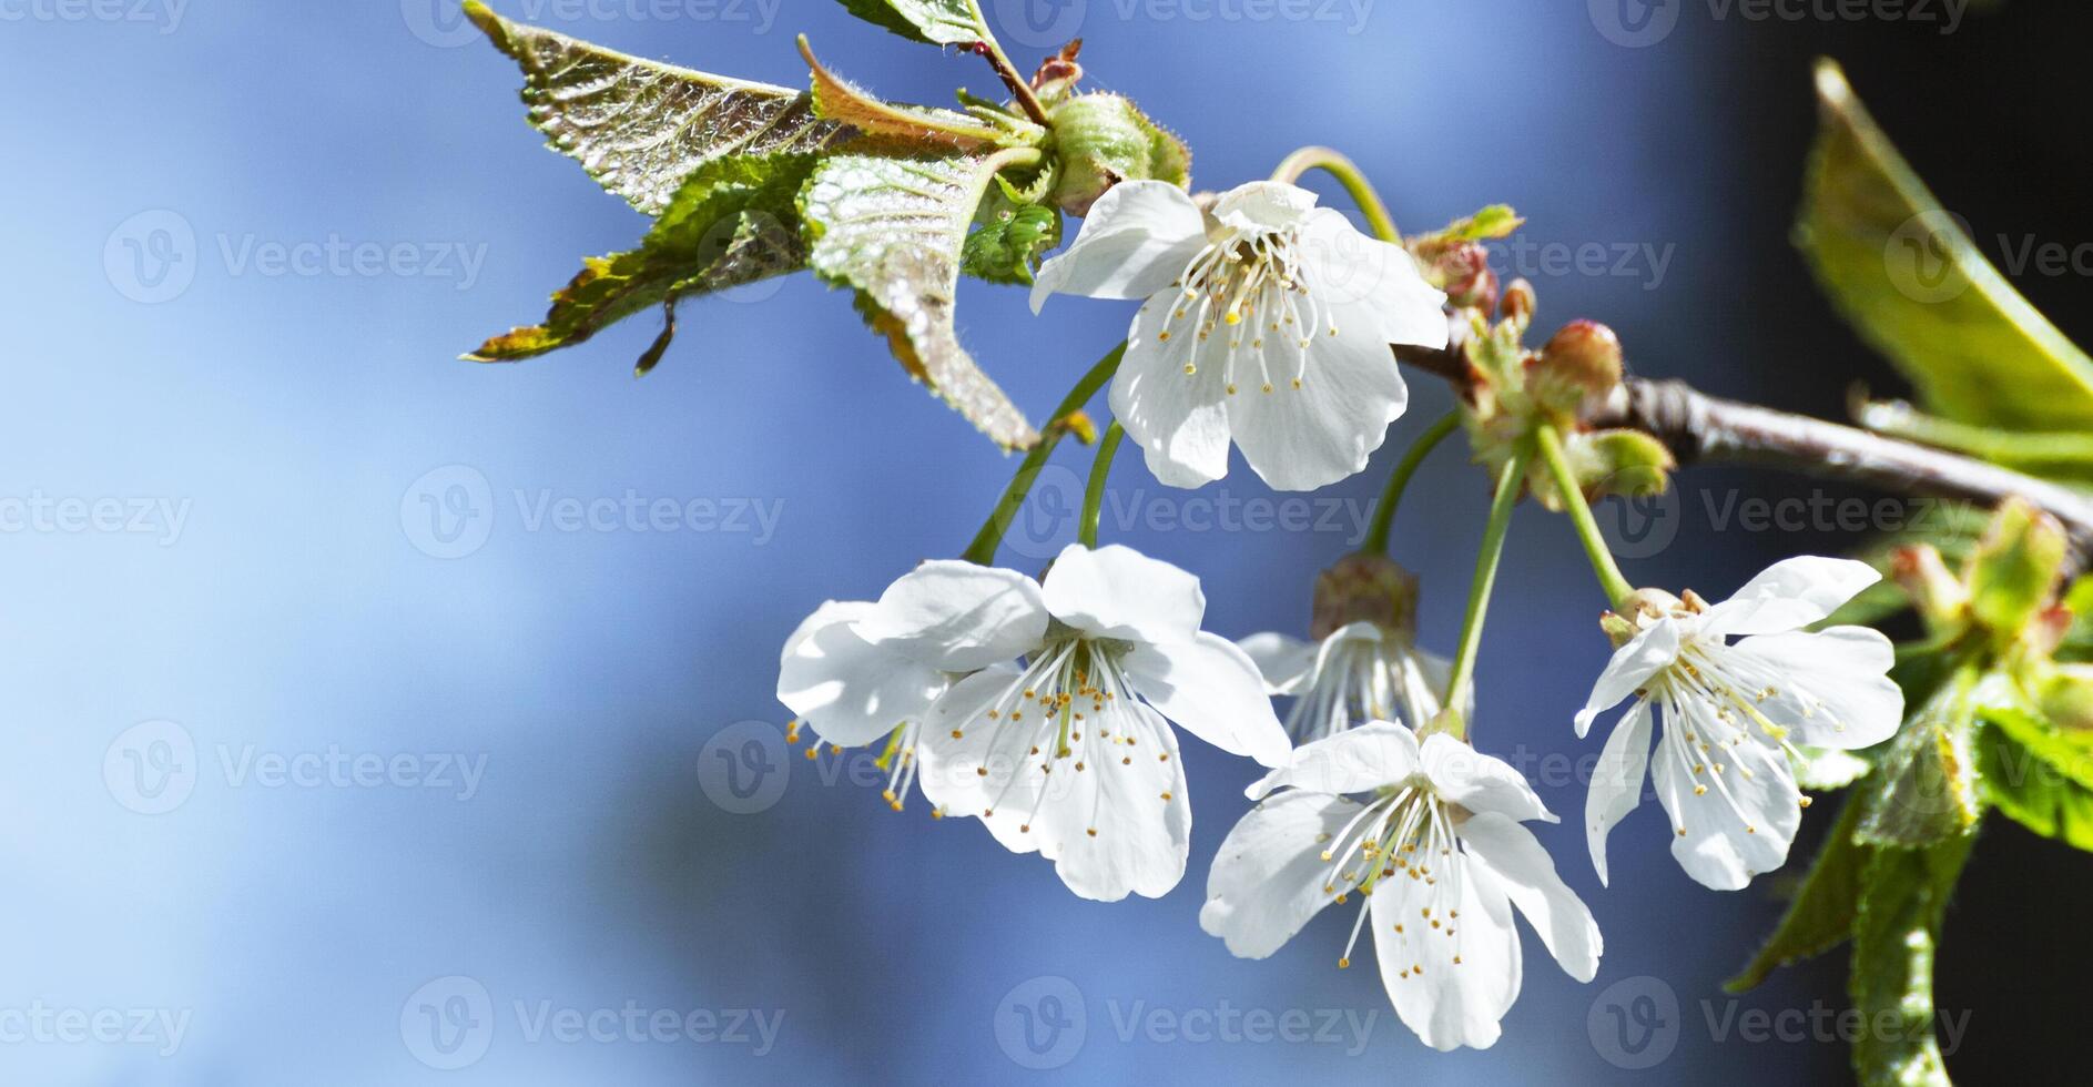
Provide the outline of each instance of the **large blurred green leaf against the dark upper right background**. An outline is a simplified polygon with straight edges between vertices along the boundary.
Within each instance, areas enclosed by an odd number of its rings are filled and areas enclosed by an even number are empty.
[[[2093,425],[2093,358],[2039,314],[1875,128],[1831,61],[1796,239],[1846,320],[1959,423]]]

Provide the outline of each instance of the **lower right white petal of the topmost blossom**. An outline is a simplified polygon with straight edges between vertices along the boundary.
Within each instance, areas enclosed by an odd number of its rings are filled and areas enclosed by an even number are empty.
[[[1245,343],[1247,360],[1237,358],[1237,394],[1226,398],[1229,431],[1250,467],[1275,490],[1316,490],[1367,467],[1411,396],[1371,310],[1325,310],[1321,327],[1300,333],[1306,362],[1291,329],[1262,335],[1262,352]]]

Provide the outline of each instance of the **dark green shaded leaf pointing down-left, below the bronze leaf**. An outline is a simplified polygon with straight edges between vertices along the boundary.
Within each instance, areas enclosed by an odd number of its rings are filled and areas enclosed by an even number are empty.
[[[814,155],[770,155],[699,165],[638,249],[588,258],[553,295],[542,325],[496,335],[465,358],[513,362],[571,348],[640,310],[802,268],[806,245],[793,201],[814,163]],[[636,373],[659,362],[672,335],[674,320]]]

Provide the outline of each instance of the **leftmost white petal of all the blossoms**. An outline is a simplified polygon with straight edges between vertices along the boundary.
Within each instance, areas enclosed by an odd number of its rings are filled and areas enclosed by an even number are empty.
[[[902,720],[921,718],[944,691],[944,674],[864,641],[852,624],[867,601],[820,605],[785,643],[779,702],[829,744],[856,748]]]

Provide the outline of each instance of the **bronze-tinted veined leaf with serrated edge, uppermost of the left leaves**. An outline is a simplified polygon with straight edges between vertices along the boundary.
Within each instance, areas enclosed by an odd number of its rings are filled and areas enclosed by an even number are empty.
[[[511,23],[477,0],[465,15],[523,69],[523,103],[546,140],[649,216],[707,161],[827,151],[856,136],[816,117],[804,90],[626,57]]]

